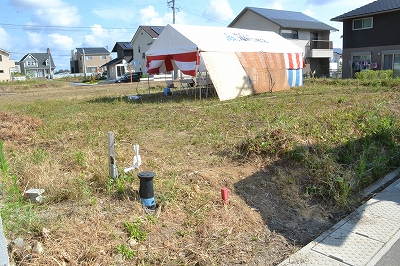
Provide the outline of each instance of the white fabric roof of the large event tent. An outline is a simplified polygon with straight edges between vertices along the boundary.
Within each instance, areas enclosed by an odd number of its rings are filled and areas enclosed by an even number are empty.
[[[199,52],[302,53],[302,49],[272,31],[167,25],[147,56]]]

